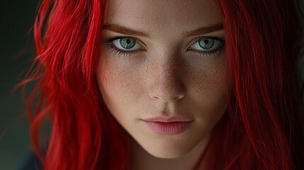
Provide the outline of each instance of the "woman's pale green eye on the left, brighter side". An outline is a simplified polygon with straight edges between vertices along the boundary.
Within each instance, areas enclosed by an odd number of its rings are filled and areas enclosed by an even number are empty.
[[[117,40],[113,40],[113,45],[115,45],[119,50],[123,51],[140,50],[140,48],[142,47],[135,38],[130,37],[118,38]]]

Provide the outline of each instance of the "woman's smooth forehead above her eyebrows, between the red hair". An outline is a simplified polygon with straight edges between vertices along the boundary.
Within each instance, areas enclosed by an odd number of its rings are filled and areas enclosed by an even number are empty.
[[[180,33],[222,23],[214,0],[110,0],[105,23],[119,23],[151,35]]]

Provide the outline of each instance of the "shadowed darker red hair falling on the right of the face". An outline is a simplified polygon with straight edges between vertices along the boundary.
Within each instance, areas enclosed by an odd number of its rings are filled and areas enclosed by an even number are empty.
[[[213,161],[224,162],[214,162],[215,169],[304,168],[304,118],[293,78],[302,34],[294,3],[218,1],[232,88],[226,137],[213,144],[223,147]]]

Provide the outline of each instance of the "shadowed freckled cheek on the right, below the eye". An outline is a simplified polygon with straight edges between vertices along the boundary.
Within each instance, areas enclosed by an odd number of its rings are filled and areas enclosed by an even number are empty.
[[[213,62],[205,62],[205,67],[188,80],[191,103],[198,112],[199,120],[213,124],[225,113],[227,108],[227,67],[225,56]],[[192,88],[191,88],[192,87]]]

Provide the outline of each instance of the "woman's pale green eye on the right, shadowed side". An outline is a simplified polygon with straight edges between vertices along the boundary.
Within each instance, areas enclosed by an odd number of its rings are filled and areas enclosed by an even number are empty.
[[[220,40],[216,40],[213,38],[201,38],[200,40],[196,41],[191,48],[196,51],[203,51],[209,52],[222,47],[223,43]]]

